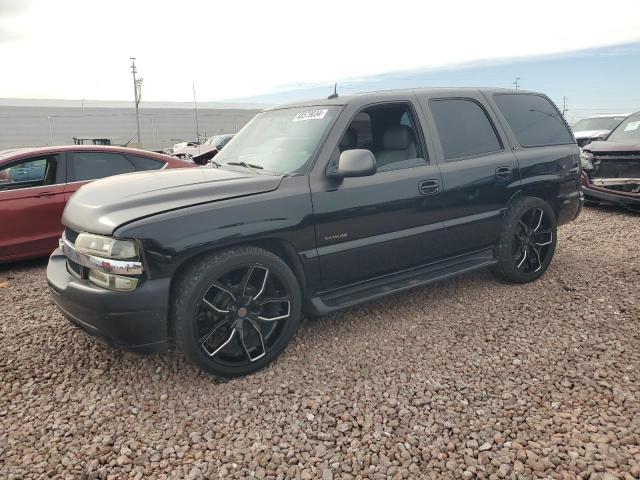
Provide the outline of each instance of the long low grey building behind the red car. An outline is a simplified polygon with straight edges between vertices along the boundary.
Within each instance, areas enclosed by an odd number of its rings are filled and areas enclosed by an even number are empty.
[[[261,109],[259,105],[198,105],[200,139],[235,133]],[[189,103],[143,102],[142,147],[161,150],[196,140],[196,121]],[[133,102],[0,99],[0,150],[73,144],[73,137],[108,138],[113,145],[135,146]]]

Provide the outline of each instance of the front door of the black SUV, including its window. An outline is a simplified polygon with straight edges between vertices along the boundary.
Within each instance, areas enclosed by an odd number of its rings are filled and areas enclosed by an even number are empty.
[[[398,99],[402,100],[402,99]],[[428,263],[443,233],[441,177],[429,160],[415,99],[350,105],[310,177],[323,290]],[[377,172],[339,180],[326,176],[341,151],[368,149]],[[325,149],[326,150],[326,149]]]

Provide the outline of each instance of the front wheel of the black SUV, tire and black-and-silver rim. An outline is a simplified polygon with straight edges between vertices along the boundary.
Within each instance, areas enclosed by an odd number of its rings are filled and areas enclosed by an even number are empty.
[[[271,363],[302,312],[298,281],[278,256],[245,246],[197,259],[172,290],[178,349],[204,371],[237,377]]]

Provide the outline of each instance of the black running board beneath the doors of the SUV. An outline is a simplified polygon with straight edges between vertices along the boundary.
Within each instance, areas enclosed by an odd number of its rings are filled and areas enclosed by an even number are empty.
[[[339,290],[321,293],[319,296],[311,298],[311,308],[316,315],[326,315],[369,300],[489,267],[495,263],[497,260],[493,249],[488,248],[424,267],[378,277]]]

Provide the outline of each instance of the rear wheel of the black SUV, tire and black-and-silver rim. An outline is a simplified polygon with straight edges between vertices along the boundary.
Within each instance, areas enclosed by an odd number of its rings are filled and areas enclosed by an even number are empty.
[[[513,202],[496,244],[498,263],[491,268],[509,283],[529,283],[549,267],[556,250],[557,225],[553,209],[536,197]]]

